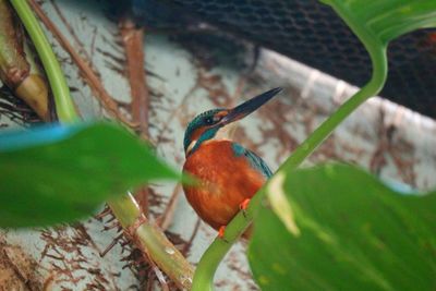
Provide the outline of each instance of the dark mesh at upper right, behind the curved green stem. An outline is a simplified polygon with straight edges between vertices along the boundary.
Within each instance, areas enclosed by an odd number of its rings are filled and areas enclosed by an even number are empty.
[[[141,2],[141,1],[140,1]],[[310,66],[362,86],[371,75],[364,47],[327,5],[315,0],[171,0],[173,7]],[[389,47],[382,96],[436,118],[436,29]]]

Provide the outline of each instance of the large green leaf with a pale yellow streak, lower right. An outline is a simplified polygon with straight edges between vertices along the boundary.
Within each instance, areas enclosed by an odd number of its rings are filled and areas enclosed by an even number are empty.
[[[351,166],[279,171],[249,259],[263,290],[434,290],[436,192],[404,195]]]

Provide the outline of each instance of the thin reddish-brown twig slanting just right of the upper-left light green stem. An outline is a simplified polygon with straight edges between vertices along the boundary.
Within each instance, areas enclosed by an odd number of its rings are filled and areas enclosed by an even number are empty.
[[[100,100],[101,106],[113,117],[119,119],[124,124],[130,128],[136,128],[137,124],[131,122],[126,119],[119,110],[117,102],[112,99],[112,97],[108,94],[105,87],[101,84],[101,81],[97,76],[97,74],[89,66],[88,62],[84,61],[82,57],[75,51],[70,41],[62,35],[59,28],[51,22],[45,12],[40,9],[39,4],[36,3],[35,0],[28,0],[28,3],[34,9],[35,13],[38,15],[40,21],[46,25],[46,27],[53,34],[53,36],[58,39],[63,49],[71,56],[74,63],[78,66],[81,74],[83,75],[85,82],[93,89],[95,96]]]

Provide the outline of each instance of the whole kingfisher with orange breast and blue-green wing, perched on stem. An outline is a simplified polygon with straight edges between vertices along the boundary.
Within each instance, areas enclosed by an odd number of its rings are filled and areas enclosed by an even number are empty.
[[[229,140],[230,124],[254,112],[281,92],[274,88],[232,109],[213,109],[196,116],[184,134],[183,171],[199,180],[183,185],[187,202],[197,215],[218,230],[226,226],[271,177],[266,162],[252,150]]]

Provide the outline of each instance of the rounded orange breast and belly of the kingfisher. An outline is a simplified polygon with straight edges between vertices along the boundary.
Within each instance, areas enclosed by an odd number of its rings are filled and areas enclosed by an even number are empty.
[[[233,154],[230,141],[210,141],[190,155],[183,170],[202,182],[183,186],[186,198],[198,216],[215,229],[227,226],[239,205],[251,198],[265,183],[244,156]]]

